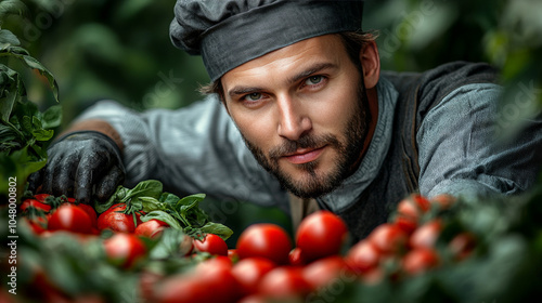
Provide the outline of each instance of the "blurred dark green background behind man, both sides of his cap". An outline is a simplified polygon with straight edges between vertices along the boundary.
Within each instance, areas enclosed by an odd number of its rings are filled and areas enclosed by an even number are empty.
[[[2,0],[4,1],[4,0]],[[63,127],[96,100],[138,110],[178,108],[199,100],[208,81],[201,57],[172,47],[168,36],[175,0],[24,0],[27,10],[2,24],[55,76]],[[384,69],[424,70],[464,60],[502,68],[503,130],[540,110],[542,1],[366,1],[364,29],[379,31]],[[24,71],[24,70],[23,70]],[[25,75],[28,98],[54,104],[36,75]],[[255,221],[288,227],[278,210],[240,203],[227,224],[240,230]]]

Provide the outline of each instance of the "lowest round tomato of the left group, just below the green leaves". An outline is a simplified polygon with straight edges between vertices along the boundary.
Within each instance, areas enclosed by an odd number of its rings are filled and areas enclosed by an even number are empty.
[[[107,259],[122,268],[129,268],[146,254],[143,241],[133,234],[117,233],[103,241]]]

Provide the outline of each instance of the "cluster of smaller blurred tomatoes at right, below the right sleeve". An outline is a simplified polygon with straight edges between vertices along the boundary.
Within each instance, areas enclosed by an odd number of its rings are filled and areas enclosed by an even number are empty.
[[[352,246],[345,256],[346,262],[365,282],[380,281],[385,268],[391,268],[391,276],[399,278],[438,267],[442,255],[436,245],[443,222],[438,215],[427,214],[436,209],[446,210],[453,201],[454,198],[448,195],[428,200],[418,194],[401,200],[390,222],[377,226]],[[460,233],[454,235],[446,251],[453,259],[462,260],[468,256],[475,245],[474,236]]]

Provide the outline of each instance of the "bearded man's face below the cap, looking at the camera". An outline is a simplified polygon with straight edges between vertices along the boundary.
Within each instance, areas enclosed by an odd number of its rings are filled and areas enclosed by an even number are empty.
[[[367,133],[366,93],[338,36],[245,63],[222,87],[248,148],[294,195],[330,193],[354,169]]]

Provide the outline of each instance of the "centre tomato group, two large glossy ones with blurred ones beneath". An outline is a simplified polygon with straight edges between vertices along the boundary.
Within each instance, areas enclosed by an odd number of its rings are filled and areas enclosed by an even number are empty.
[[[153,295],[147,299],[153,302],[301,300],[347,269],[339,254],[346,236],[343,220],[328,211],[306,218],[295,242],[279,225],[253,224],[243,230],[229,253],[212,253],[216,256],[199,262],[188,273],[155,280]]]

